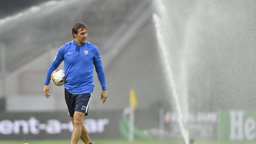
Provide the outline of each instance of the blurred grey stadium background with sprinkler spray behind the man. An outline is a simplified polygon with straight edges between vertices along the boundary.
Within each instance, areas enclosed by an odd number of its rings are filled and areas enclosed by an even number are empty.
[[[70,139],[64,86],[50,84],[50,99],[42,90],[80,21],[100,51],[109,95],[102,104],[94,73],[84,120],[92,140],[182,144],[182,118],[195,144],[255,143],[254,0],[1,1],[0,140]]]

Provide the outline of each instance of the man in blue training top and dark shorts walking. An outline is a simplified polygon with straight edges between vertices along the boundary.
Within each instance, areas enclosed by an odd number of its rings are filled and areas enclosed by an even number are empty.
[[[105,74],[96,46],[87,42],[88,27],[82,22],[76,22],[72,28],[74,40],[61,46],[50,65],[44,82],[44,96],[50,98],[49,86],[51,73],[64,60],[65,99],[68,113],[73,123],[70,144],[77,144],[79,138],[84,144],[92,144],[86,127],[84,116],[88,115],[88,106],[94,89],[93,67],[95,66],[102,92],[101,100],[107,100]]]

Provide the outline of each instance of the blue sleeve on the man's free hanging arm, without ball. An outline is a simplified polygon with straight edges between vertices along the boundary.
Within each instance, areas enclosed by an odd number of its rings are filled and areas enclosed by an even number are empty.
[[[96,48],[94,58],[93,58],[93,63],[94,63],[95,70],[97,72],[98,79],[100,81],[102,90],[107,90],[104,69],[102,66],[100,52],[99,52],[98,48]]]

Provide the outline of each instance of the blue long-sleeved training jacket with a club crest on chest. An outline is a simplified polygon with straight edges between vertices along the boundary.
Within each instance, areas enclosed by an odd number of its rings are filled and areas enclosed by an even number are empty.
[[[72,94],[92,93],[93,66],[95,66],[102,90],[106,90],[105,74],[100,59],[98,48],[85,42],[78,47],[75,41],[68,42],[61,46],[50,65],[44,84],[50,83],[51,74],[64,60],[65,88]]]

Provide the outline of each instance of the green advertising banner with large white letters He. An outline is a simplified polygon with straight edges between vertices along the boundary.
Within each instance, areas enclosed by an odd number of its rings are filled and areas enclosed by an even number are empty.
[[[218,123],[219,140],[255,141],[256,111],[221,110]]]

